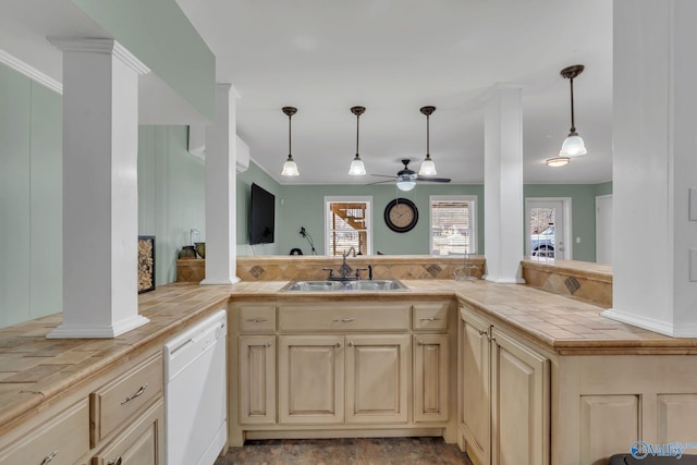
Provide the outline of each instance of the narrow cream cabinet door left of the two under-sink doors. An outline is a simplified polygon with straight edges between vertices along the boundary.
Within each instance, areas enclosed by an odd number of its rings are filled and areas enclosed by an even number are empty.
[[[276,336],[240,336],[240,423],[276,423]]]

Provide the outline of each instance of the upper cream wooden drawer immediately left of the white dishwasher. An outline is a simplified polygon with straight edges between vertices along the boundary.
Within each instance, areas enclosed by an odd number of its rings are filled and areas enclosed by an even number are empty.
[[[162,395],[162,356],[155,355],[89,395],[91,446]]]

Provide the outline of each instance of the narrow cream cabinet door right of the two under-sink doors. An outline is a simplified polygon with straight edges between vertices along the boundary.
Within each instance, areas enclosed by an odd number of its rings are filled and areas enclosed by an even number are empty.
[[[450,345],[448,334],[414,334],[414,421],[447,421]]]

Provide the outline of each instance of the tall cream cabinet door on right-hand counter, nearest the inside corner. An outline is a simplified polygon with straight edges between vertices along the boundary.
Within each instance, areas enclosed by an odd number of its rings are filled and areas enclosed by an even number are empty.
[[[460,426],[466,451],[476,464],[491,463],[491,344],[489,325],[461,311],[458,389]]]

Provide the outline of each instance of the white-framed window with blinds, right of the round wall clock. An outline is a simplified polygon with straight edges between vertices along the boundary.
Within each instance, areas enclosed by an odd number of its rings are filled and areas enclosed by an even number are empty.
[[[431,254],[475,254],[477,196],[431,195],[430,207]]]

